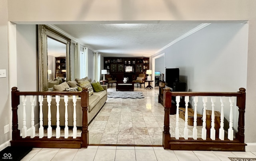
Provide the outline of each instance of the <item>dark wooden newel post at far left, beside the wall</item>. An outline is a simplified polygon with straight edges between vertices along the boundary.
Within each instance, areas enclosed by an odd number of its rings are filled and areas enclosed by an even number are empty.
[[[17,87],[12,87],[12,140],[20,138],[20,130],[18,130],[18,105],[20,104],[20,96],[16,93],[20,92]]]

